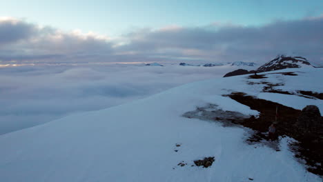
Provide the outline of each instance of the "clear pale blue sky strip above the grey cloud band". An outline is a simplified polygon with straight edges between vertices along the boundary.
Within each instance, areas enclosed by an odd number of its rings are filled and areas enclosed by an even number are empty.
[[[319,16],[323,13],[323,1],[6,0],[1,2],[0,12],[2,16],[25,18],[62,30],[116,36],[133,28],[194,27],[213,22],[262,26],[277,19]]]

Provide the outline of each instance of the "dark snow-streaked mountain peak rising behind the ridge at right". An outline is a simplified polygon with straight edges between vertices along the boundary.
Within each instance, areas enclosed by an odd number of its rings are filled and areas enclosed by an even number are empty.
[[[302,68],[309,65],[311,65],[311,63],[304,57],[286,57],[285,55],[278,55],[275,59],[260,66],[260,68],[257,69],[257,72],[268,72],[285,68]]]

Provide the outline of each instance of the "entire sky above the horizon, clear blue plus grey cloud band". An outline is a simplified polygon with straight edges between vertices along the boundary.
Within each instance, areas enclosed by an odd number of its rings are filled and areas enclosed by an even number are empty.
[[[0,65],[323,62],[320,0],[12,0],[0,12]]]

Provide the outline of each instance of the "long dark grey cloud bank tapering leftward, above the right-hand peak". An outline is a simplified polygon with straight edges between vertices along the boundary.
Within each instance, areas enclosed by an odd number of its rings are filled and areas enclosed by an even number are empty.
[[[297,54],[322,63],[323,17],[275,21],[260,27],[208,26],[139,30],[119,47],[137,54],[164,54],[208,61],[268,61],[277,54]]]

